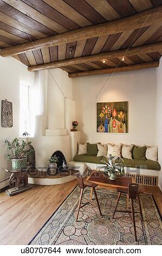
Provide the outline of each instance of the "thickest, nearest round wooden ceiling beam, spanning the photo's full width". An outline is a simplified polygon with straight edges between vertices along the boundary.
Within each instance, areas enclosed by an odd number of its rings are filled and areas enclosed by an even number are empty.
[[[141,27],[151,26],[162,22],[162,6],[143,11],[120,20],[75,29],[48,38],[38,39],[22,45],[4,48],[0,51],[2,57],[13,56],[23,52],[33,51],[44,47],[67,44],[68,42],[81,41],[108,34],[122,33]]]

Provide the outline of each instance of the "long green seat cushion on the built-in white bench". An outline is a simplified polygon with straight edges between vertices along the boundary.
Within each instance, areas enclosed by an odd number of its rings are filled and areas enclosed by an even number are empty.
[[[88,155],[76,155],[74,156],[74,161],[76,162],[85,162],[85,163],[99,163],[101,162],[101,156],[88,156]],[[152,160],[138,160],[138,159],[123,159],[125,167],[133,167],[133,168],[143,168],[150,170],[160,170],[160,164],[158,162]]]

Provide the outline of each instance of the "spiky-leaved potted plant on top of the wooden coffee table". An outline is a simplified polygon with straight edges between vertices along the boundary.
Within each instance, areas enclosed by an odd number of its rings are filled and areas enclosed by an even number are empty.
[[[105,156],[105,160],[101,160],[106,166],[104,174],[107,176],[110,180],[116,179],[116,173],[119,173],[120,175],[125,174],[124,165],[122,164],[123,160],[121,157],[115,156],[112,157],[112,155],[109,155],[108,157]]]

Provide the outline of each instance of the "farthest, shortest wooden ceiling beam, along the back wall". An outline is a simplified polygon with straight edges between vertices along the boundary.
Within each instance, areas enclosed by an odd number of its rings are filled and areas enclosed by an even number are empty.
[[[159,60],[157,60],[155,62],[146,62],[146,63],[140,63],[140,64],[135,64],[135,65],[118,66],[116,68],[75,72],[75,73],[70,73],[68,76],[70,78],[74,78],[74,77],[80,77],[80,76],[112,74],[112,73],[116,73],[116,72],[126,72],[126,71],[132,71],[132,70],[157,68],[158,66],[159,66]]]

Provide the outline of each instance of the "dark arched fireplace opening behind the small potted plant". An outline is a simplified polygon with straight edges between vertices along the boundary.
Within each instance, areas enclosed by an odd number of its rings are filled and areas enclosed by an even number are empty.
[[[54,155],[59,157],[59,160],[57,162],[57,172],[56,172],[56,174],[58,174],[59,172],[67,171],[67,169],[68,169],[67,161],[66,161],[66,158],[64,157],[63,153],[60,150],[57,150],[53,153],[52,156],[54,156]],[[47,173],[49,173],[49,167],[47,169]]]

